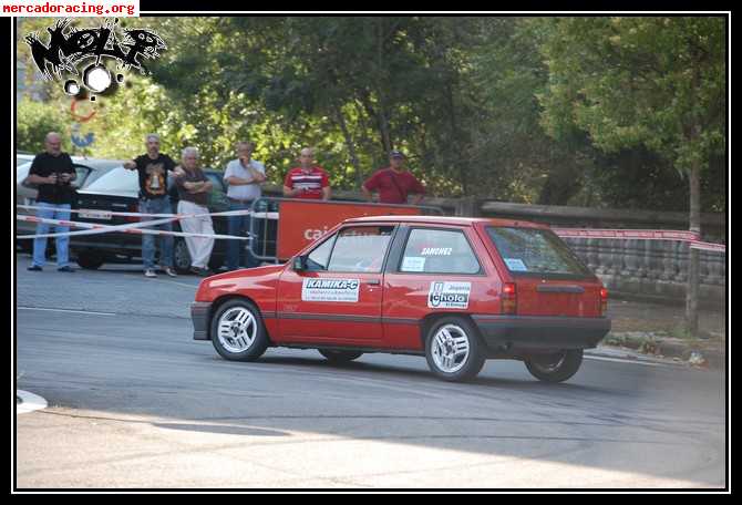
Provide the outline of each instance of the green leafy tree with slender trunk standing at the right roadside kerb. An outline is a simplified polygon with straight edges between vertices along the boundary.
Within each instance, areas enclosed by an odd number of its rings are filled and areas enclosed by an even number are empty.
[[[725,150],[723,18],[559,18],[538,21],[549,85],[543,125],[554,137],[587,132],[615,153],[645,146],[690,189],[701,234],[701,175]],[[698,332],[699,251],[690,251],[687,323]]]

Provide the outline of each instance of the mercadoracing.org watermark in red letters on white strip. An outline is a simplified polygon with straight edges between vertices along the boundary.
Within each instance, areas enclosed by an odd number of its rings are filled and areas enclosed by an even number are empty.
[[[0,16],[23,18],[138,18],[140,0],[0,0]]]

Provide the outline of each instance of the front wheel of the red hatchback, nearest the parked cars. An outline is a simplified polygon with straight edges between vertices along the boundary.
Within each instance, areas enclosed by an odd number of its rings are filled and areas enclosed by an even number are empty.
[[[260,310],[247,300],[230,300],[212,319],[212,343],[230,361],[255,361],[268,349],[269,339]]]

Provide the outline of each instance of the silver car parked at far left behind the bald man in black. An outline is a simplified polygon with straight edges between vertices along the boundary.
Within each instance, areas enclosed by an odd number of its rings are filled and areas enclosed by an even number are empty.
[[[16,168],[16,204],[17,205],[29,205],[33,206],[37,203],[37,197],[39,196],[39,190],[32,185],[24,185],[23,182],[29,176],[29,171],[31,169],[31,163],[33,162],[34,156],[30,156],[31,159],[22,163]],[[89,186],[99,177],[101,177],[106,172],[113,169],[114,167],[121,166],[123,162],[117,159],[97,159],[97,158],[83,158],[73,156],[72,163],[78,173],[78,178],[72,183],[73,187],[80,189]],[[73,204],[75,207],[75,204]],[[20,215],[35,215],[34,210],[19,208],[16,210]],[[33,235],[35,233],[37,225],[33,223],[27,221],[17,221],[16,233],[18,235]],[[48,250],[52,252],[54,250],[53,245],[54,239],[50,239],[47,243]],[[33,244],[30,239],[18,240],[18,245],[25,251],[30,251],[33,247]]]

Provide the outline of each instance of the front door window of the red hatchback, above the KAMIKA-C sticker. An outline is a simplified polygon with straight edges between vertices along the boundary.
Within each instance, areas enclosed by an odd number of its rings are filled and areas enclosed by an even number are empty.
[[[380,272],[393,230],[393,226],[358,226],[340,230],[328,270]]]

